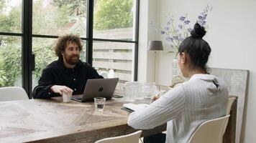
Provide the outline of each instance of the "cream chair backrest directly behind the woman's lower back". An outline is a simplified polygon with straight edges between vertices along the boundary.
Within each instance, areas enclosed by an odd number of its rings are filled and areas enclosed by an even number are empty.
[[[189,143],[222,143],[229,116],[211,119],[201,124],[189,139]]]

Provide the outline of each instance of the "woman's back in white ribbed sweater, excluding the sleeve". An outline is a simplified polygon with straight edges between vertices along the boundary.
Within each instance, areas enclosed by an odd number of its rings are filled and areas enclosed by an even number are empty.
[[[188,142],[202,122],[226,114],[228,90],[222,79],[194,74],[180,86],[184,90],[183,113],[168,122],[167,142]]]

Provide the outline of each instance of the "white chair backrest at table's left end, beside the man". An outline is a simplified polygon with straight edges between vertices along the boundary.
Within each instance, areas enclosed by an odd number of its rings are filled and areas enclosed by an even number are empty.
[[[29,99],[22,87],[1,87],[0,102]]]

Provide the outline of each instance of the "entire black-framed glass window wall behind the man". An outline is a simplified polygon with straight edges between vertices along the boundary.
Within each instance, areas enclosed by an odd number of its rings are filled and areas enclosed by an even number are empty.
[[[78,34],[81,60],[137,80],[138,0],[1,0],[0,87],[22,86],[31,97],[42,69],[58,59],[58,36]],[[35,56],[33,56],[35,55]]]

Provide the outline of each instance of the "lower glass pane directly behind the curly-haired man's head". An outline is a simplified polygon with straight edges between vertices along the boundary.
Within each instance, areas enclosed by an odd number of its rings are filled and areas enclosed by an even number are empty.
[[[35,71],[32,73],[32,88],[34,89],[41,77],[42,69],[45,69],[52,61],[57,60],[58,56],[55,56],[54,51],[57,39],[33,38],[32,42],[32,51],[35,54]],[[85,61],[86,41],[82,40],[82,44],[83,51],[81,51],[80,59]]]

